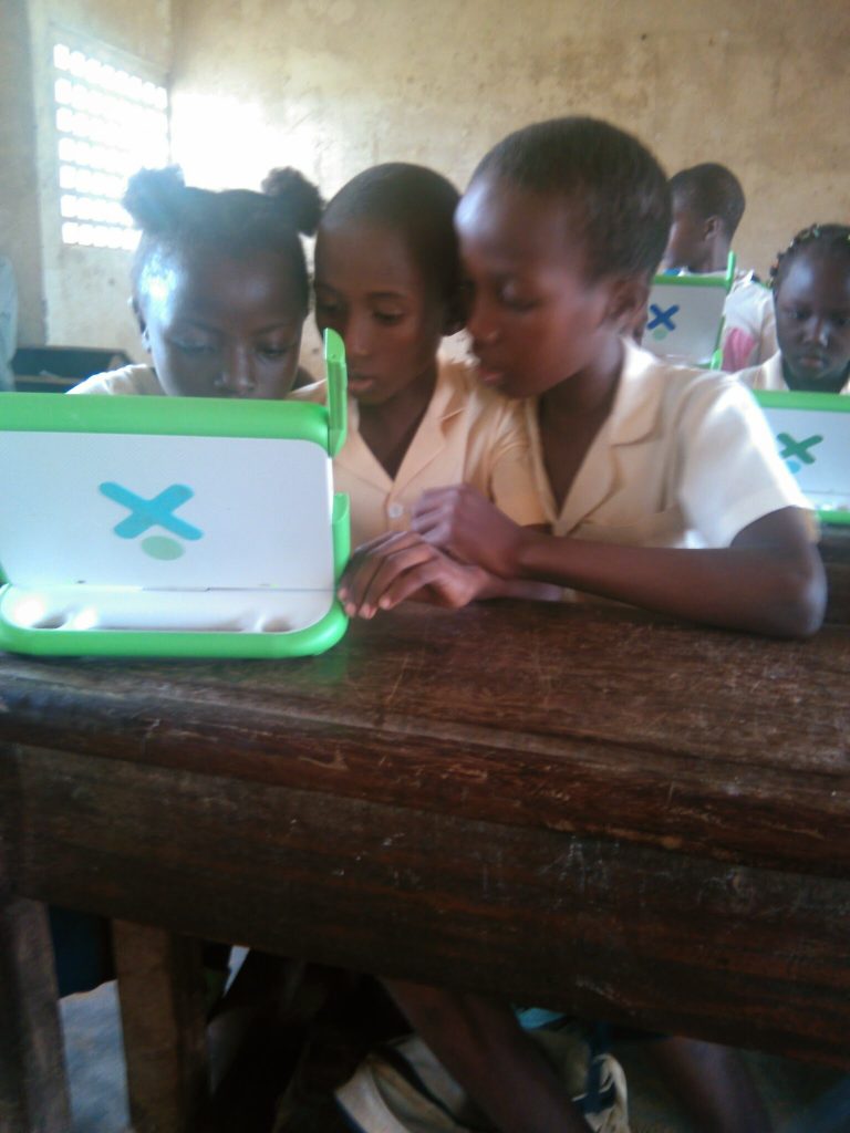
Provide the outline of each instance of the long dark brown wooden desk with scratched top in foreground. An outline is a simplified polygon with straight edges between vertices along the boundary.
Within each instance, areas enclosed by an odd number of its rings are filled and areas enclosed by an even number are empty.
[[[23,898],[850,1066],[848,674],[844,624],[536,604],[1,658],[0,1126],[66,1127],[20,1116],[61,1076]]]

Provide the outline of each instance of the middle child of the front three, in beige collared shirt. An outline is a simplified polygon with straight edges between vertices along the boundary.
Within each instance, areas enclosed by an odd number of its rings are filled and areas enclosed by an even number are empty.
[[[422,165],[359,173],[316,238],[316,322],[346,344],[349,431],[334,461],[351,544],[406,530],[427,488],[466,482],[519,523],[543,520],[516,408],[437,358],[464,323],[457,189]]]

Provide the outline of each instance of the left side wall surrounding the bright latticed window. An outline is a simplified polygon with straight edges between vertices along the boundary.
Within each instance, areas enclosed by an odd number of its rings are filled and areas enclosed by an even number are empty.
[[[0,5],[0,249],[20,291],[18,342],[102,346],[141,357],[127,306],[130,254],[61,242],[52,46],[77,32],[168,70],[170,0],[3,0]],[[116,61],[120,61],[116,58]],[[7,99],[9,102],[7,103]],[[7,105],[11,113],[7,114]]]

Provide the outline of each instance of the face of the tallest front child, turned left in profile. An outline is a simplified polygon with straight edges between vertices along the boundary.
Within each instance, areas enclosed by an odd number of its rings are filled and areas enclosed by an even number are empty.
[[[510,397],[543,393],[611,357],[611,281],[588,281],[570,223],[555,197],[486,176],[458,207],[467,330],[482,380]]]

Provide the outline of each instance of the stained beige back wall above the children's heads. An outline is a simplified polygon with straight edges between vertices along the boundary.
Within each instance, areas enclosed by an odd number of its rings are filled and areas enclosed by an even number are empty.
[[[409,159],[459,182],[509,129],[611,118],[674,172],[733,168],[740,259],[850,213],[847,0],[177,0],[173,137],[187,173],[325,193]]]

